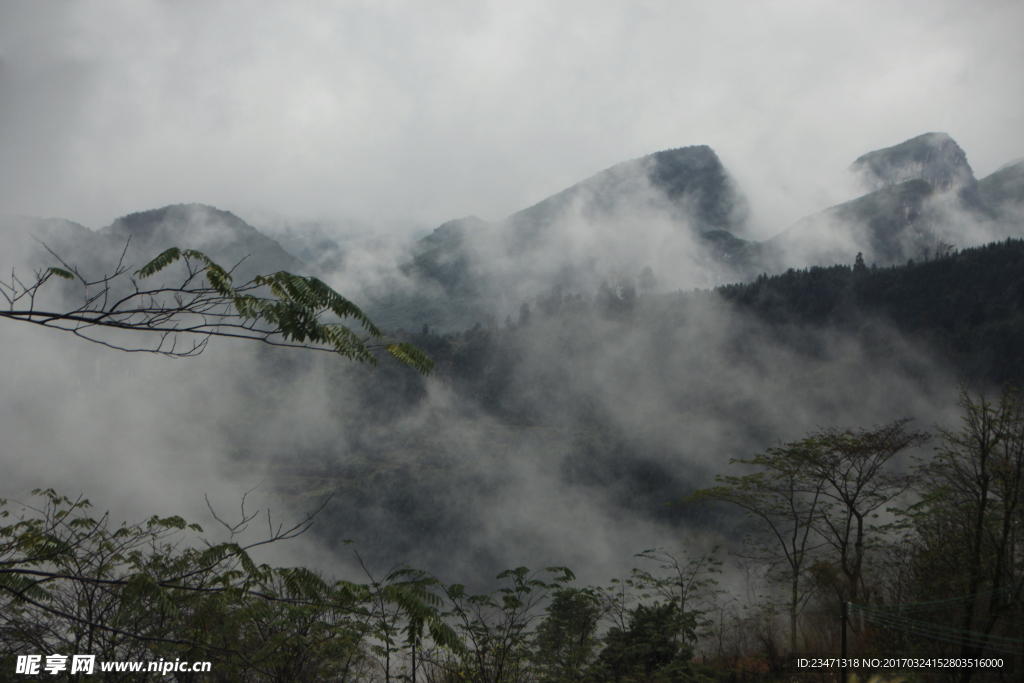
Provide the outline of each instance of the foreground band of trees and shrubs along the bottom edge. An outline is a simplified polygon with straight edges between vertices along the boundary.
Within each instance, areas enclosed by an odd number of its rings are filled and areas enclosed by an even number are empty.
[[[37,492],[35,505],[2,508],[2,677],[42,655],[41,674],[48,663],[88,680],[66,663],[91,654],[212,660],[202,680],[215,681],[792,680],[793,655],[839,652],[848,603],[851,655],[995,658],[928,680],[1019,680],[1024,401],[965,390],[961,411],[959,429],[935,435],[901,419],[736,461],[687,501],[746,513],[731,558],[691,540],[640,553],[632,575],[604,587],[577,586],[566,567],[507,570],[480,594],[408,566],[339,581],[252,557],[314,516],[242,545],[255,520],[243,513],[226,542],[203,543],[179,517],[119,525],[87,501]],[[736,567],[745,585],[726,590],[723,570]]]

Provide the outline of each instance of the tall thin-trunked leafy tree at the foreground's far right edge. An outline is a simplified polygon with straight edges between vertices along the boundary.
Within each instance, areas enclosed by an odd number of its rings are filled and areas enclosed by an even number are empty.
[[[1024,626],[1024,400],[1012,388],[995,401],[962,388],[959,405],[963,426],[941,430],[919,470],[919,566],[930,595],[968,598],[959,654],[978,657],[997,632],[1019,638]]]

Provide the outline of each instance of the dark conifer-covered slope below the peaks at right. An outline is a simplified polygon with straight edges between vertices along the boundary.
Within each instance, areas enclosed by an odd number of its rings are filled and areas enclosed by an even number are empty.
[[[882,321],[945,357],[961,377],[1024,382],[1024,241],[1007,240],[879,268],[791,269],[717,291],[770,325],[859,330]]]

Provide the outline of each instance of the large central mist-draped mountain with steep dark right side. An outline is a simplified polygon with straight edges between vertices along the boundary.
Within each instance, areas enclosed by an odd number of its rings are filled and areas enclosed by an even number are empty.
[[[728,282],[728,259],[713,252],[720,241],[742,242],[735,233],[745,232],[748,211],[711,147],[658,152],[616,164],[503,221],[445,222],[417,244],[401,268],[422,285],[414,295],[418,303],[378,291],[373,308],[395,325],[402,311],[443,308],[449,312],[435,324],[451,329],[472,325],[483,310],[515,312],[553,287],[594,291],[645,266],[672,273],[677,285]],[[431,290],[435,295],[423,294]],[[449,305],[455,300],[459,309]]]

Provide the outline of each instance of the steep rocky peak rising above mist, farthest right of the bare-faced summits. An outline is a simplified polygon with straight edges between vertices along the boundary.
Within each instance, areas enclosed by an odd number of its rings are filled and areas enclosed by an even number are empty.
[[[964,150],[947,133],[925,133],[868,152],[853,162],[850,170],[860,175],[870,190],[921,179],[945,193],[973,188],[978,182]]]

